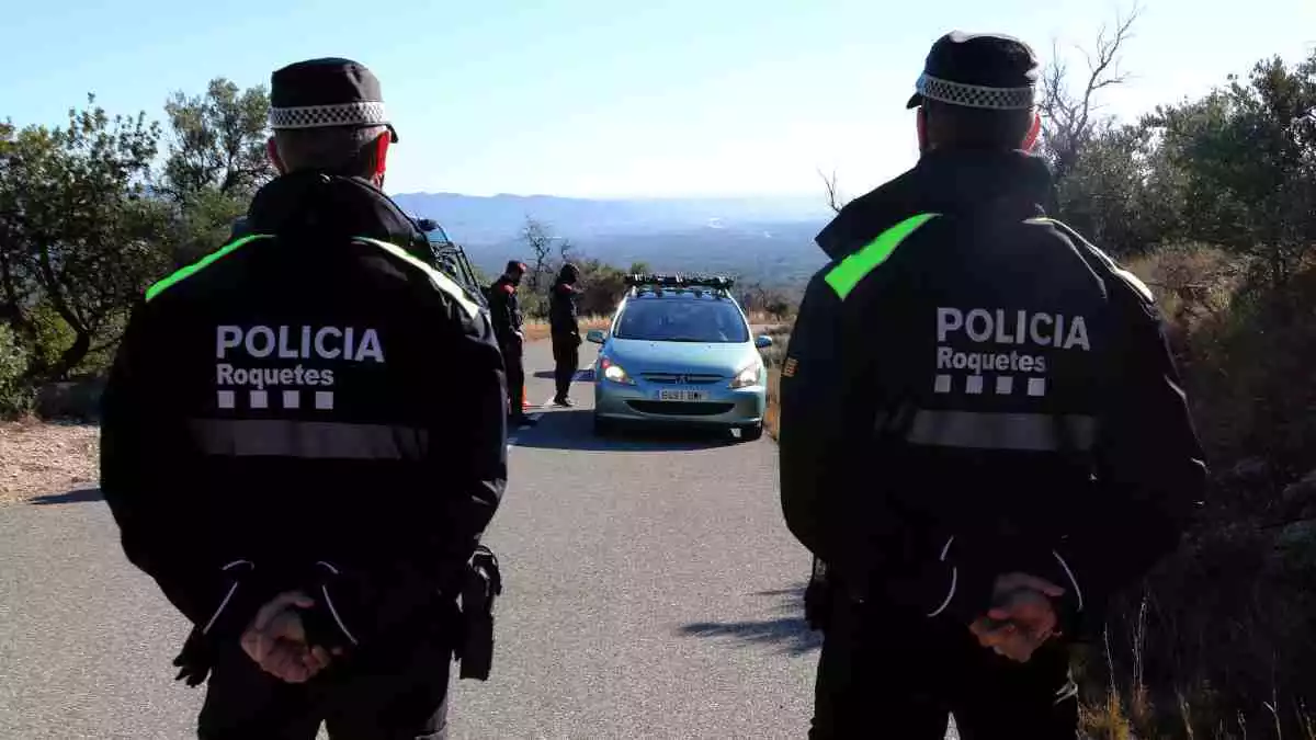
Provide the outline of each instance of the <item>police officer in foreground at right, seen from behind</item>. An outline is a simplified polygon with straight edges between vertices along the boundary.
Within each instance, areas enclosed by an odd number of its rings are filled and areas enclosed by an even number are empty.
[[[1073,739],[1074,640],[1205,467],[1148,288],[1048,219],[1037,61],[950,33],[921,157],[817,236],[782,369],[782,507],[833,603],[812,737]],[[824,610],[826,611],[826,610]]]

